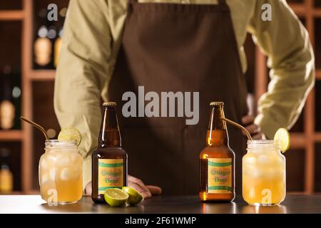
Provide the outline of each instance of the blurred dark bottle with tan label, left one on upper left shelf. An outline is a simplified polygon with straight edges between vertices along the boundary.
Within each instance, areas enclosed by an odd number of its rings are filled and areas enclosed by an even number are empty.
[[[50,27],[46,9],[41,9],[38,16],[40,26],[34,41],[34,68],[51,69],[54,67],[52,38],[56,37],[56,30]]]

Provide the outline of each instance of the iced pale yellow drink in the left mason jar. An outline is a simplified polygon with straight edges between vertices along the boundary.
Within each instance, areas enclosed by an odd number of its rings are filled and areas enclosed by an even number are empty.
[[[42,199],[48,203],[77,202],[83,195],[83,158],[72,142],[46,141],[39,161]]]

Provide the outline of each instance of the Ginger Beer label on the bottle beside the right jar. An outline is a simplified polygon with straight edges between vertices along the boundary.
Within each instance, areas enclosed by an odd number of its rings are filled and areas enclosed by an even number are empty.
[[[208,193],[231,193],[232,158],[208,158]]]

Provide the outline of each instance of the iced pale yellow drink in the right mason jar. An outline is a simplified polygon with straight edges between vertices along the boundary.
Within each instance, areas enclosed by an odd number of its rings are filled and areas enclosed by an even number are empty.
[[[243,156],[243,199],[251,205],[278,205],[285,199],[285,157],[272,140],[248,141]]]

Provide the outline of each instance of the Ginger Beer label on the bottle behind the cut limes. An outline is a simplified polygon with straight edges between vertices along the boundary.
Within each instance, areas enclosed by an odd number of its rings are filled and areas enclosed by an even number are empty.
[[[98,194],[123,187],[123,159],[98,159]]]

